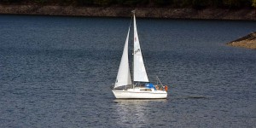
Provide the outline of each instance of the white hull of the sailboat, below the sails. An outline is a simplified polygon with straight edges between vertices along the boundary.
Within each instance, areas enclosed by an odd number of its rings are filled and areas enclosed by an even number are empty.
[[[112,90],[117,99],[166,99],[165,90],[142,91],[138,89]]]

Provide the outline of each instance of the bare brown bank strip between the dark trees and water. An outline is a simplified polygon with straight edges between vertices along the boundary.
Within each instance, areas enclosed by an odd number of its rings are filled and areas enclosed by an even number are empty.
[[[0,5],[0,14],[130,17],[135,8],[54,5]],[[137,17],[203,20],[256,20],[255,9],[136,8]]]

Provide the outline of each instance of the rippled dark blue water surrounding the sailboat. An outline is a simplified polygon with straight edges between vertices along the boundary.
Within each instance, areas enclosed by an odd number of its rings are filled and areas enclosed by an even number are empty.
[[[115,100],[130,19],[0,15],[0,127],[256,127],[254,21],[137,19],[167,100]]]

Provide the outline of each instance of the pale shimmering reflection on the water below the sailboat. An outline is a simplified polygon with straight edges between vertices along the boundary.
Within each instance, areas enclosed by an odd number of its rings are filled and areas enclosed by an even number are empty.
[[[118,114],[117,127],[148,127],[155,116],[148,118],[152,111],[157,109],[158,104],[166,102],[166,99],[159,100],[120,100],[116,99],[114,113]],[[158,106],[159,107],[159,106]]]

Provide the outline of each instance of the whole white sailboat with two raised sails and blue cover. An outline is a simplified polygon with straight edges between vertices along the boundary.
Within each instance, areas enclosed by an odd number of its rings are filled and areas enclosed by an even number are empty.
[[[117,99],[165,99],[167,97],[167,86],[161,84],[152,84],[148,80],[148,74],[143,62],[143,54],[140,48],[140,42],[137,33],[137,24],[135,11],[131,16],[133,19],[133,62],[132,79],[129,66],[128,42],[131,24],[125,39],[123,55],[119,65],[119,71],[113,87],[113,95]],[[157,82],[158,83],[158,82]]]

